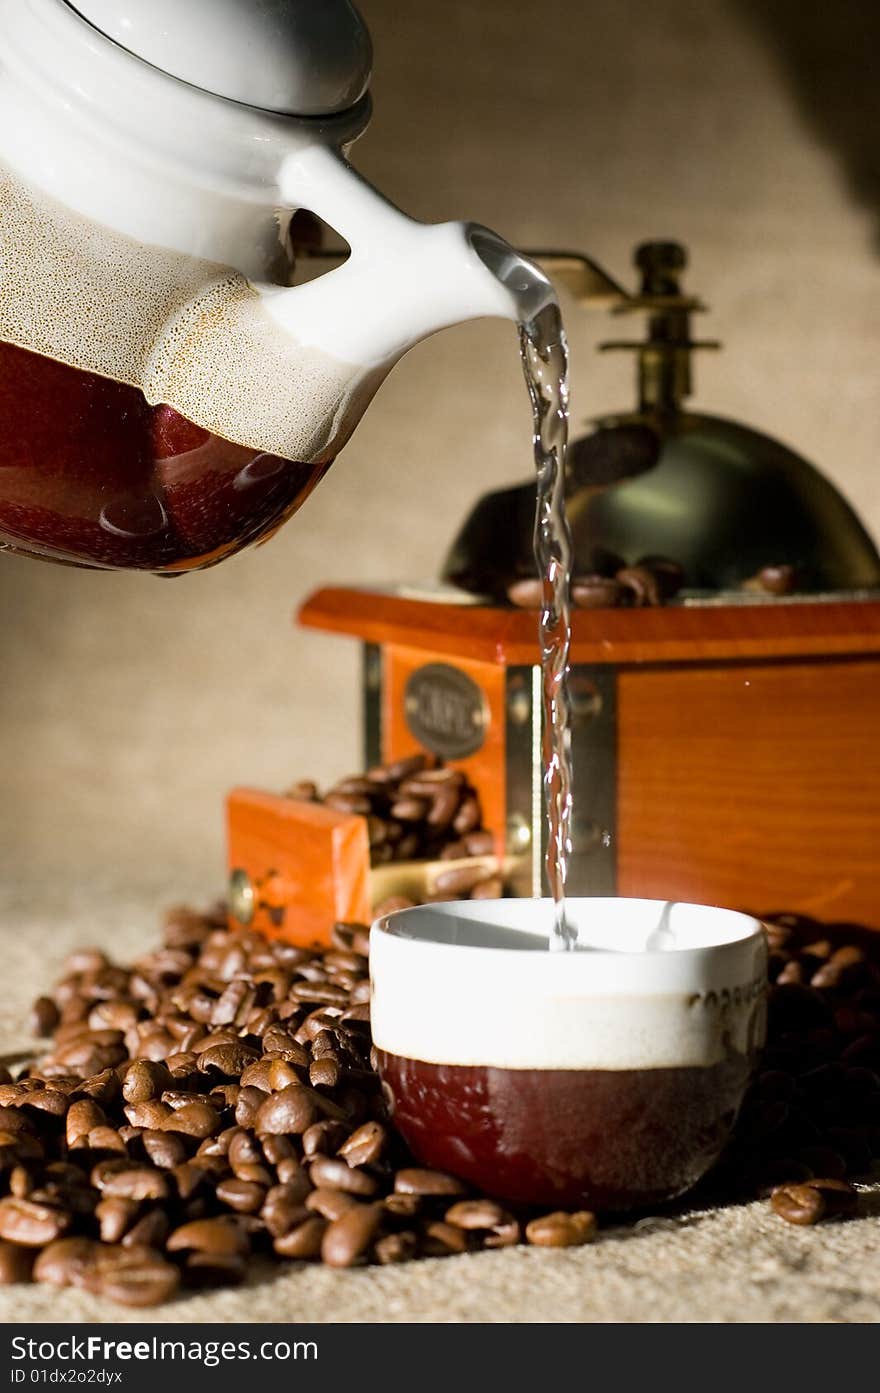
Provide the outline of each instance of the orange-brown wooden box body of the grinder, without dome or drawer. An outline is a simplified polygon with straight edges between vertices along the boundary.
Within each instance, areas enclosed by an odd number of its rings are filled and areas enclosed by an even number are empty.
[[[363,644],[365,761],[432,749],[540,893],[536,616],[317,591]],[[579,610],[572,894],[794,910],[880,928],[880,600]]]

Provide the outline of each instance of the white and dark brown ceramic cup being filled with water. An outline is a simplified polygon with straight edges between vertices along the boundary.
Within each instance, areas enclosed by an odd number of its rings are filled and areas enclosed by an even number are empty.
[[[730,1137],[764,1039],[757,919],[575,898],[430,904],[370,933],[372,1029],[418,1160],[514,1204],[625,1211],[684,1194]]]

